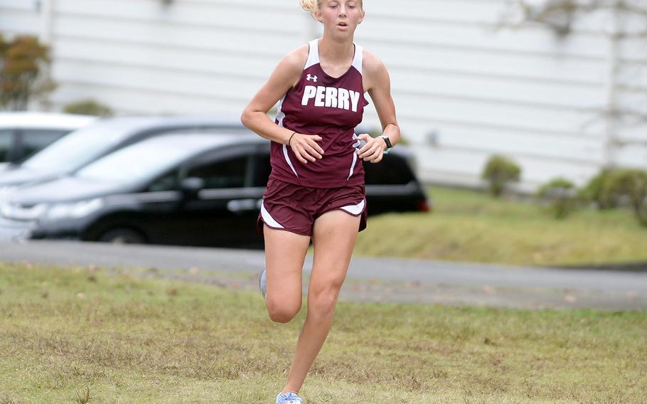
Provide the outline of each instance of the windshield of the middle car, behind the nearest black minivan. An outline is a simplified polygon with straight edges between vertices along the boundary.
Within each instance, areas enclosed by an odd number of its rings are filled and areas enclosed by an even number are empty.
[[[77,129],[23,161],[23,166],[50,172],[70,172],[97,158],[121,142],[128,133],[117,128]]]

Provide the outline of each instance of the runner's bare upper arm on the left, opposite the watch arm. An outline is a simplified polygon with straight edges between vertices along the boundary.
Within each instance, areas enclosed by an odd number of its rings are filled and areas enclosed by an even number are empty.
[[[308,45],[292,50],[279,62],[272,75],[252,97],[246,110],[267,112],[301,78],[308,58]]]

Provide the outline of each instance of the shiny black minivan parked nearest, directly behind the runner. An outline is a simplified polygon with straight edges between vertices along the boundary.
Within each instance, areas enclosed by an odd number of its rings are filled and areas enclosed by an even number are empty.
[[[368,213],[428,211],[397,147],[365,164]],[[256,218],[270,171],[256,134],[169,133],[71,176],[18,188],[0,206],[0,238],[262,248]]]

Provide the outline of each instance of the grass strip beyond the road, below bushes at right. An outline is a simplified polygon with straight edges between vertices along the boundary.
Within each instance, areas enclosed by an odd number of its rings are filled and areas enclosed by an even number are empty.
[[[369,218],[355,255],[511,265],[647,261],[647,228],[630,211],[584,209],[555,220],[535,203],[438,186],[428,190],[432,213]]]

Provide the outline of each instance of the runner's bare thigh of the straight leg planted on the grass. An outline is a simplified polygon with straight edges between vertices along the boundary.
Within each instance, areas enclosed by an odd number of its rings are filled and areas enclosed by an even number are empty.
[[[338,292],[346,279],[357,240],[359,216],[341,210],[323,213],[314,222],[314,262],[309,294]]]

